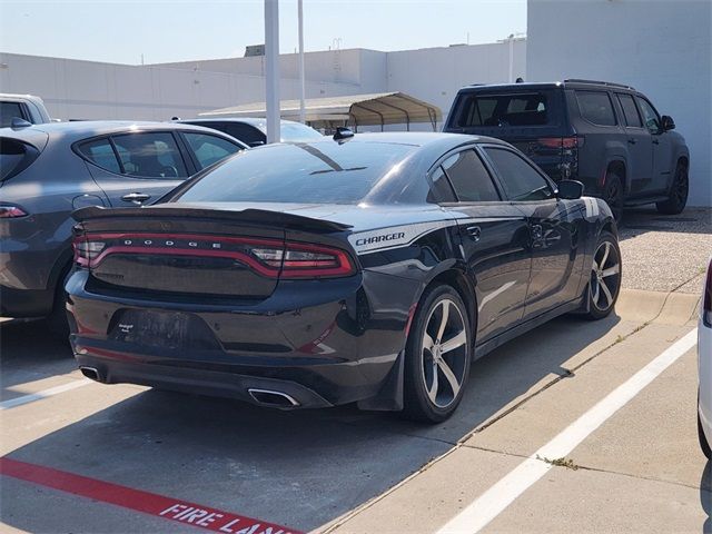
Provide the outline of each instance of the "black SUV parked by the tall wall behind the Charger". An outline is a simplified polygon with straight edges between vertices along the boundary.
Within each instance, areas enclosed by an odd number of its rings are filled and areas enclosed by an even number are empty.
[[[565,80],[465,87],[444,131],[508,141],[554,180],[581,180],[620,220],[624,205],[684,209],[690,152],[674,128],[632,87]]]

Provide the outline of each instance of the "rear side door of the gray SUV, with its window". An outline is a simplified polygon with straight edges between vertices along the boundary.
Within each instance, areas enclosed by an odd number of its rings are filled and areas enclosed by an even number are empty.
[[[170,131],[120,134],[83,141],[77,149],[93,164],[89,171],[113,207],[150,204],[195,170]]]

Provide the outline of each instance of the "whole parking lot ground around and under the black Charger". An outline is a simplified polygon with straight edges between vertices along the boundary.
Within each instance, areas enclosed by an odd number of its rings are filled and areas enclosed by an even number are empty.
[[[476,362],[436,426],[102,386],[4,322],[3,532],[712,532],[691,334],[710,211],[683,215],[634,212],[616,314]]]

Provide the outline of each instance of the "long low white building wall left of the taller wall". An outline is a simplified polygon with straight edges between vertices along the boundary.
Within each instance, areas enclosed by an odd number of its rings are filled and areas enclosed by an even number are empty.
[[[514,42],[515,77],[524,72],[525,50],[524,41]],[[298,56],[279,59],[281,98],[296,99]],[[459,87],[507,81],[508,61],[508,42],[399,52],[309,52],[306,96],[403,91],[447,113]],[[0,92],[38,95],[60,119],[166,120],[265,99],[263,57],[129,66],[0,53]]]

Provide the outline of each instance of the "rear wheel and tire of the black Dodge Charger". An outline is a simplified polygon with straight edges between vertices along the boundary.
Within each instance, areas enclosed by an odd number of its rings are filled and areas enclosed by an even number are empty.
[[[448,344],[451,348],[446,348]],[[457,291],[447,285],[426,290],[406,344],[402,415],[426,423],[447,419],[459,405],[467,385],[472,347],[471,320]]]

